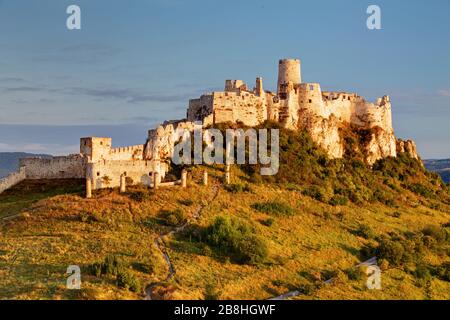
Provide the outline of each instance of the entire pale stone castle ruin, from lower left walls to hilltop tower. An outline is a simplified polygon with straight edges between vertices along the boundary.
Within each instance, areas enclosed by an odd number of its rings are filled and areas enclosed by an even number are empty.
[[[111,138],[81,138],[79,154],[21,159],[20,170],[0,180],[0,192],[23,179],[86,178],[93,189],[101,189],[119,186],[125,176],[127,183],[152,185],[168,171],[178,129],[192,131],[194,122],[256,126],[266,120],[308,131],[330,158],[343,156],[341,130],[352,127],[371,129],[362,150],[368,164],[399,152],[418,159],[414,142],[394,135],[389,96],[371,103],[356,93],[322,91],[319,83],[302,82],[300,60],[283,59],[276,93],[264,90],[262,78],[256,78],[252,89],[242,80],[226,80],[224,91],[190,100],[186,119],[150,130],[145,144],[112,148]]]

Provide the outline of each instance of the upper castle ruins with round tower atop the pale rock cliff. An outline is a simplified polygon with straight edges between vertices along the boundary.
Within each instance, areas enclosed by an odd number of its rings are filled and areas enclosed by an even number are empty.
[[[242,122],[248,126],[278,121],[288,129],[308,130],[333,158],[343,155],[339,127],[381,128],[386,132],[383,139],[388,147],[373,152],[370,161],[378,155],[396,155],[389,96],[371,103],[356,93],[323,92],[319,83],[302,82],[298,59],[279,60],[276,94],[264,90],[260,77],[252,91],[242,80],[226,80],[224,91],[189,101],[187,120],[204,125]]]

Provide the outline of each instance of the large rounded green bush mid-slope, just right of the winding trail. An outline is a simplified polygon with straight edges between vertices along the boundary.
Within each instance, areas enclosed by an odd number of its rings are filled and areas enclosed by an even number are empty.
[[[255,264],[266,259],[268,249],[263,238],[248,224],[228,217],[217,217],[205,231],[206,241],[238,263]]]

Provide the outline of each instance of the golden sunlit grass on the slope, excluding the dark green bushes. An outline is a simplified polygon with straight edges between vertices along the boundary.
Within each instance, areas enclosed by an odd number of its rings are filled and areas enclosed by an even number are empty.
[[[327,280],[329,274],[337,274],[333,284],[318,286],[297,299],[450,298],[449,282],[433,278],[429,287],[419,286],[410,274],[395,268],[383,271],[379,291],[368,290],[365,278],[349,280],[343,275],[360,262],[361,247],[373,241],[355,233],[361,224],[375,236],[418,231],[427,224],[447,223],[448,205],[431,209],[419,196],[405,191],[398,207],[379,202],[331,206],[283,185],[249,183],[236,168],[233,182],[248,184],[249,190],[232,192],[220,182],[222,172],[217,167],[207,168],[210,186],[202,186],[204,169],[192,168],[187,189],[177,186],[153,192],[133,187],[124,195],[102,190],[93,199],[84,199],[80,181],[73,182],[73,188],[67,188],[67,181],[60,187],[52,182],[51,194],[33,189],[33,182],[26,181],[0,195],[0,219],[16,215],[0,221],[0,298],[142,298],[118,288],[111,277],[90,275],[88,266],[113,254],[126,262],[143,285],[162,281],[168,270],[154,239],[172,227],[159,222],[160,211],[180,209],[189,218],[201,205],[206,206],[192,230],[202,230],[218,216],[238,218],[253,225],[266,240],[268,257],[258,265],[241,265],[193,239],[189,232],[164,237],[176,270],[169,283],[159,284],[171,288],[166,298],[268,299]],[[213,184],[219,192],[211,202]],[[135,200],[134,192],[147,196]],[[277,215],[252,207],[266,202],[281,202],[293,211]],[[268,219],[272,224],[264,225]],[[449,257],[429,254],[427,261],[440,264]],[[69,265],[81,267],[81,292],[65,287]]]

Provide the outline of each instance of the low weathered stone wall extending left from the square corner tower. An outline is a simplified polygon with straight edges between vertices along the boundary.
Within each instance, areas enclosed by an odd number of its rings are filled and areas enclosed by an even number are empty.
[[[79,154],[64,157],[23,158],[26,179],[82,179],[86,176],[86,161]]]

